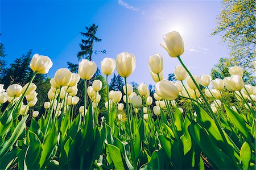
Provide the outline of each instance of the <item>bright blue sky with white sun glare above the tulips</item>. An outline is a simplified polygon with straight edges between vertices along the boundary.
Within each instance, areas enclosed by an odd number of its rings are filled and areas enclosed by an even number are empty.
[[[49,56],[53,77],[67,61],[78,63],[76,54],[85,26],[98,25],[102,42],[96,50],[106,55],[93,55],[98,67],[104,57],[115,57],[127,51],[137,60],[128,81],[153,81],[147,66],[148,57],[160,53],[164,59],[164,78],[173,73],[177,59],[168,56],[159,45],[162,36],[179,31],[185,52],[181,56],[193,74],[209,74],[228,49],[218,36],[210,36],[221,11],[220,1],[12,1],[1,0],[1,43],[5,45],[7,63],[32,49]]]

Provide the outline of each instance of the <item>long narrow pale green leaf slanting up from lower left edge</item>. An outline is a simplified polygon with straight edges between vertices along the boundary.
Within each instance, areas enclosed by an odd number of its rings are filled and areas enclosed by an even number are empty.
[[[26,120],[28,118],[28,115],[26,115],[22,120],[18,123],[18,125],[15,127],[13,133],[11,134],[10,139],[6,140],[2,146],[0,146],[0,157],[6,154],[6,152],[10,151],[11,147],[13,147],[16,140],[19,138],[19,136],[22,134],[22,132],[26,128]]]

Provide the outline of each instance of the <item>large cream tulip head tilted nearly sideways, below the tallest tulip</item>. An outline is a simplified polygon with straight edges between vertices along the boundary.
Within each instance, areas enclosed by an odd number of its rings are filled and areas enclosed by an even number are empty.
[[[158,96],[167,100],[174,100],[179,96],[179,90],[177,87],[173,82],[168,80],[156,82],[155,90]]]

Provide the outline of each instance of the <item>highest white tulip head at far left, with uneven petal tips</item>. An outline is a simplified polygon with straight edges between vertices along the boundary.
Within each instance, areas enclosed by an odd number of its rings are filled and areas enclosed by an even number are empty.
[[[36,53],[30,61],[30,68],[38,74],[47,74],[52,64],[52,60],[49,57]]]

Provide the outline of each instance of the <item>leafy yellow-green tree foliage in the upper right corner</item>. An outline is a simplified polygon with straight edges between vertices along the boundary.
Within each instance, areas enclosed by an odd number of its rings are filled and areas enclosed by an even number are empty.
[[[212,32],[212,35],[220,35],[230,48],[230,57],[220,60],[218,65],[224,67],[216,65],[217,71],[224,76],[228,67],[238,65],[246,72],[244,80],[250,84],[255,84],[255,78],[251,76],[254,72],[251,62],[256,56],[255,5],[254,0],[223,0],[217,27]]]

